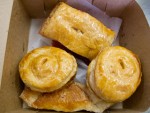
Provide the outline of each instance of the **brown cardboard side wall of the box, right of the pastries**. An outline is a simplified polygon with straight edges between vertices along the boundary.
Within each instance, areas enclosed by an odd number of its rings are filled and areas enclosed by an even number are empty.
[[[145,111],[150,106],[150,28],[136,2],[128,6],[121,17],[123,24],[120,30],[120,44],[136,53],[142,64],[140,87],[124,102],[124,107]]]

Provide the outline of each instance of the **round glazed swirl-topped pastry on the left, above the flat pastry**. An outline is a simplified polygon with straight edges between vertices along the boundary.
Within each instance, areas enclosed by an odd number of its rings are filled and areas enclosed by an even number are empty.
[[[22,81],[34,91],[52,92],[64,86],[76,74],[75,58],[55,47],[37,48],[19,64]]]

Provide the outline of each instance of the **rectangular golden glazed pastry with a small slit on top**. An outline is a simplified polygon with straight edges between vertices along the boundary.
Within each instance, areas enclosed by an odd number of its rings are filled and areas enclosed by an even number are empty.
[[[44,22],[40,34],[88,59],[110,46],[115,37],[112,30],[94,17],[62,2]]]

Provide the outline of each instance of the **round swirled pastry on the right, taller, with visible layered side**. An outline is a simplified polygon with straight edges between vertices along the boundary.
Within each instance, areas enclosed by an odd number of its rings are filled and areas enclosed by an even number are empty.
[[[87,85],[107,102],[121,102],[129,98],[141,81],[138,57],[124,47],[103,50],[89,65]]]

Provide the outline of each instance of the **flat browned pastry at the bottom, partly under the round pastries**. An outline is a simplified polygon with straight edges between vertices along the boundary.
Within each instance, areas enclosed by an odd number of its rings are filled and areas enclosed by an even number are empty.
[[[35,109],[63,112],[87,110],[101,113],[101,107],[94,105],[82,88],[81,84],[71,83],[52,93],[40,93],[26,87],[20,97]]]

